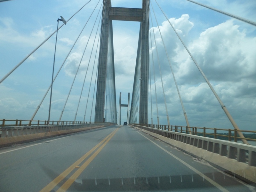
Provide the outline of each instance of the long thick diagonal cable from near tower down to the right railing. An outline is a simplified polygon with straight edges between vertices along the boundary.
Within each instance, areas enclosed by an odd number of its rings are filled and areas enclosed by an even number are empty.
[[[156,1],[156,0],[155,0]],[[159,6],[159,4],[156,2],[156,4]],[[204,80],[206,81],[206,83],[209,85],[210,89],[212,90],[214,96],[216,97],[216,99],[219,101],[221,108],[224,110],[225,114],[227,115],[230,123],[233,125],[234,129],[239,130],[235,120],[233,119],[233,117],[230,115],[230,113],[228,112],[228,109],[226,108],[226,106],[223,104],[223,102],[221,101],[220,97],[218,96],[218,94],[215,92],[214,88],[212,87],[212,85],[210,84],[209,80],[207,79],[207,77],[204,75],[204,72],[202,71],[202,69],[199,67],[198,63],[196,62],[195,58],[193,57],[193,55],[191,54],[191,52],[188,50],[188,47],[185,45],[184,41],[181,39],[180,35],[178,34],[178,32],[176,31],[176,29],[173,27],[172,23],[170,22],[170,20],[168,19],[168,17],[166,16],[166,14],[164,13],[164,11],[162,10],[162,8],[159,6],[159,8],[161,9],[161,11],[163,12],[165,18],[167,19],[167,21],[169,22],[169,24],[171,25],[172,29],[174,30],[174,32],[176,33],[176,35],[179,37],[181,43],[183,44],[183,46],[185,47],[185,49],[187,50],[188,54],[190,55],[191,59],[194,61],[196,67],[198,68],[198,70],[200,71],[200,73],[202,74],[202,76],[204,77]],[[244,138],[243,133],[241,133],[240,131],[238,131],[238,134],[241,138]],[[245,139],[241,139],[243,141],[244,144],[248,144],[247,140]]]

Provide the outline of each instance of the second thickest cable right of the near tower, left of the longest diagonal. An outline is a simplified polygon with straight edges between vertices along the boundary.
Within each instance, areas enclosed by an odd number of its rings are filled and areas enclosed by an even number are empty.
[[[151,5],[152,5],[152,3],[151,3]],[[153,6],[152,6],[152,10],[153,10],[153,13],[154,13],[154,16],[155,16],[155,19],[156,19],[156,14],[155,14],[155,11],[154,11]],[[189,131],[189,133],[191,134],[190,126],[189,126],[189,123],[188,123],[187,113],[186,113],[186,111],[185,111],[185,108],[184,108],[184,105],[183,105],[183,102],[182,102],[182,99],[181,99],[181,96],[180,96],[179,87],[178,87],[178,84],[177,84],[177,81],[176,81],[176,78],[175,78],[175,75],[174,75],[174,72],[173,72],[173,69],[172,69],[172,64],[171,64],[171,61],[170,61],[170,58],[169,58],[169,55],[168,55],[166,46],[165,46],[165,44],[164,44],[164,39],[163,39],[162,33],[161,33],[161,31],[160,31],[160,28],[159,28],[157,19],[156,19],[156,24],[157,24],[157,27],[158,27],[158,30],[159,30],[159,33],[160,33],[160,36],[161,36],[161,39],[162,39],[162,42],[163,42],[163,45],[164,45],[164,50],[165,50],[165,53],[166,53],[166,56],[167,56],[167,59],[168,59],[168,62],[169,62],[169,66],[170,66],[171,71],[172,71],[173,80],[174,80],[174,83],[175,83],[175,86],[176,86],[176,89],[177,89],[177,92],[178,92],[178,95],[179,95],[179,98],[180,98],[180,103],[181,103],[181,107],[182,107],[182,110],[183,110],[183,114],[184,114],[184,116],[185,116],[185,120],[186,120],[186,123],[187,123],[187,126],[188,126],[188,131]]]

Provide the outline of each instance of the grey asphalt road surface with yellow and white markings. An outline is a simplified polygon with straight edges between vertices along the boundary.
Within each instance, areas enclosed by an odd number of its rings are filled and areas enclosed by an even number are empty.
[[[0,191],[255,191],[123,125],[0,149]]]

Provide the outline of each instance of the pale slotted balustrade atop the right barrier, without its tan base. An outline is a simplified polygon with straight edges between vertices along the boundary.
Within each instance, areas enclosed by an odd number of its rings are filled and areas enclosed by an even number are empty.
[[[180,141],[197,148],[205,149],[209,152],[219,154],[220,156],[226,156],[229,159],[236,159],[238,162],[246,163],[250,166],[256,166],[256,147],[246,145],[242,143],[234,143],[224,140],[218,140],[213,138],[207,138],[203,136],[197,136],[192,134],[185,134],[181,132],[175,132],[151,128],[146,125],[132,124],[140,129],[156,133],[166,138]],[[177,129],[176,129],[177,130]]]

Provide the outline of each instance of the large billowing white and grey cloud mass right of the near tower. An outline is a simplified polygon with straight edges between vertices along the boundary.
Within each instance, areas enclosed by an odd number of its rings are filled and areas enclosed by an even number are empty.
[[[188,21],[188,19],[188,15],[183,15],[177,19],[170,19],[178,28],[179,33],[184,32],[182,28],[188,28],[188,31],[183,35],[184,38],[189,36],[189,31],[193,27],[193,23]],[[163,22],[160,30],[165,40],[164,43],[168,46],[168,52],[171,52],[169,56],[175,71],[175,77],[180,88],[185,110],[187,111],[188,119],[193,124],[192,126],[198,126],[198,124],[214,126],[211,123],[215,123],[218,126],[224,126],[224,124],[225,126],[230,126],[227,118],[225,118],[225,114],[221,110],[220,104],[205,83],[204,78],[193,61],[189,58],[188,53],[184,51],[184,47],[180,46],[180,43],[176,39],[172,37],[168,38],[172,33],[172,29],[168,25],[169,23],[166,21]],[[175,93],[177,91],[172,76],[170,76],[171,70],[167,59],[165,59],[166,55],[164,54],[162,40],[159,39],[159,32],[155,30],[155,33],[158,38],[157,48],[160,55],[168,112],[172,114],[172,116],[170,114],[169,116],[173,118],[177,114],[180,114],[180,120],[182,121],[183,115],[180,113],[182,108],[178,94]],[[241,122],[240,118],[242,116],[249,118],[247,124],[252,124],[255,121],[251,116],[256,103],[256,56],[254,54],[256,48],[252,43],[255,41],[255,37],[246,36],[245,30],[241,31],[238,25],[235,25],[232,20],[228,20],[206,29],[198,38],[187,44],[190,52],[215,87],[216,92],[226,107],[236,116],[238,122]],[[158,64],[156,56],[154,56],[154,60],[157,71]],[[157,73],[159,74],[158,71]],[[159,75],[156,76],[160,78]],[[161,90],[162,85],[160,81],[157,82],[157,99],[161,106],[161,103],[164,102]],[[154,98],[154,94],[152,95]],[[247,101],[245,101],[245,98]],[[251,103],[251,106],[249,107],[247,103]],[[243,115],[241,114],[239,117],[237,111],[244,111],[245,109],[247,112]],[[162,110],[165,111],[164,108]],[[177,117],[175,118],[177,119]],[[219,119],[219,123],[216,123],[216,119]],[[163,121],[165,120],[163,119]],[[183,121],[185,122],[184,118]]]

